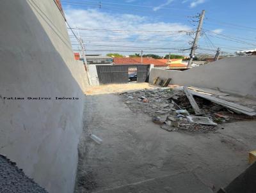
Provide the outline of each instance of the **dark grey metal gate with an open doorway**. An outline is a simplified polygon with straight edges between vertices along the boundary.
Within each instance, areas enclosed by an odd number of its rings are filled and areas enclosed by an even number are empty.
[[[129,82],[128,69],[137,67],[137,82],[148,81],[150,65],[97,65],[100,84]]]

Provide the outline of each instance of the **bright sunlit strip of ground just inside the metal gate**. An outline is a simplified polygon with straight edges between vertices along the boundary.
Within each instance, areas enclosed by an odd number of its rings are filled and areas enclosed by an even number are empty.
[[[110,93],[122,93],[124,91],[131,91],[131,90],[138,90],[138,89],[145,89],[145,88],[152,88],[149,86],[147,82],[143,83],[136,83],[131,82],[129,84],[106,84],[100,86],[89,86],[86,88],[86,95],[104,95]]]

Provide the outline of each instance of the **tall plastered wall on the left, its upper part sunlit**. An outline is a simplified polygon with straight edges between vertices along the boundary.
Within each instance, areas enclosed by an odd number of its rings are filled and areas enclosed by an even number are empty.
[[[49,192],[73,192],[86,75],[65,20],[53,0],[3,0],[0,24],[0,153]]]

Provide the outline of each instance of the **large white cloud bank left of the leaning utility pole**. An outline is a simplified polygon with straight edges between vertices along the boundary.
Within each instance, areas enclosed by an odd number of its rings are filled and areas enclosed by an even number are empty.
[[[72,27],[87,28],[87,29],[122,29],[132,31],[184,31],[191,30],[189,26],[180,23],[170,22],[155,22],[148,17],[141,17],[131,14],[107,13],[101,10],[78,10],[66,9],[65,15],[68,23]],[[76,29],[74,32],[77,33]],[[141,50],[127,47],[161,47],[161,48],[188,48],[189,36],[186,33],[113,33],[112,31],[90,31],[79,30],[82,36],[86,49],[88,50],[108,50],[99,52],[106,54],[108,52],[118,52],[118,50]],[[71,34],[71,33],[70,33]],[[75,38],[72,42],[76,43]],[[109,41],[111,40],[111,41]],[[134,42],[138,41],[138,42]],[[176,42],[173,42],[176,41]],[[177,42],[181,41],[181,42]],[[97,45],[106,45],[97,46]],[[77,49],[77,45],[74,45]],[[165,50],[161,50],[165,51]],[[173,50],[166,50],[166,53]],[[152,50],[154,52],[154,50]],[[89,52],[89,53],[97,53]],[[122,54],[132,54],[123,53]],[[166,54],[163,53],[162,55]],[[158,54],[158,53],[156,53]],[[161,53],[159,53],[161,55]]]

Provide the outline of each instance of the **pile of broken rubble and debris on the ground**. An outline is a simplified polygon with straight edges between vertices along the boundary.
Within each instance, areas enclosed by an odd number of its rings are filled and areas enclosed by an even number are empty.
[[[131,111],[147,113],[154,123],[167,131],[214,132],[217,124],[250,118],[198,96],[195,101],[204,114],[195,116],[186,94],[179,89],[143,89],[120,95]]]

